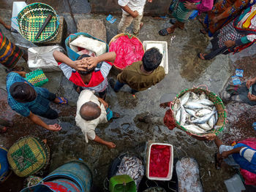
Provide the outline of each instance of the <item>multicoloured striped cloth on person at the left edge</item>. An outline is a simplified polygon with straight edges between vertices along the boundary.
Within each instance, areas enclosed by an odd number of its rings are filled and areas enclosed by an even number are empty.
[[[22,50],[10,42],[0,30],[0,64],[10,69],[18,63],[22,55]]]

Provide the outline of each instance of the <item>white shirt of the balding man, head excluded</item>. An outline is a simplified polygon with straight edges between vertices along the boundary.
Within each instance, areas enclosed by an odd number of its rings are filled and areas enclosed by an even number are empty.
[[[83,104],[86,102],[92,101],[95,104],[97,104],[100,109],[102,110],[101,114],[99,115],[99,118],[94,120],[84,120],[80,116],[80,108]],[[107,112],[105,110],[105,107],[103,104],[99,103],[99,99],[97,96],[94,96],[94,93],[89,90],[83,90],[81,91],[79,97],[78,97],[78,103],[77,103],[77,114],[75,115],[75,122],[78,127],[81,128],[84,137],[86,139],[86,142],[88,142],[88,139],[94,140],[96,137],[95,134],[95,128],[99,123],[107,123]]]

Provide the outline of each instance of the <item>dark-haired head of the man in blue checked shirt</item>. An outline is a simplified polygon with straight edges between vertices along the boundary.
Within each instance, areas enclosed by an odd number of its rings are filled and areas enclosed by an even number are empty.
[[[37,98],[37,92],[26,82],[13,83],[9,91],[12,98],[20,103],[31,102]]]

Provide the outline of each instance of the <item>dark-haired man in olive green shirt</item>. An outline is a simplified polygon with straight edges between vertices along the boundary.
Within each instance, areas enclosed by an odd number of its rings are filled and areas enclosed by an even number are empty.
[[[152,47],[144,53],[142,61],[127,66],[118,74],[116,84],[111,79],[110,86],[115,92],[120,91],[125,84],[132,88],[132,93],[144,91],[165,77],[165,69],[159,66],[161,61],[162,54],[156,47]]]

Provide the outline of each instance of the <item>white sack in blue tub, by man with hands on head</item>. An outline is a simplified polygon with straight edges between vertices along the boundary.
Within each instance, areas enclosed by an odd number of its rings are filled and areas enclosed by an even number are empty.
[[[96,39],[91,39],[89,37],[84,37],[83,35],[78,36],[69,44],[70,48],[78,53],[77,47],[82,47],[87,50],[91,50],[96,53],[97,56],[102,55],[107,52],[107,45],[105,42],[99,42]]]

